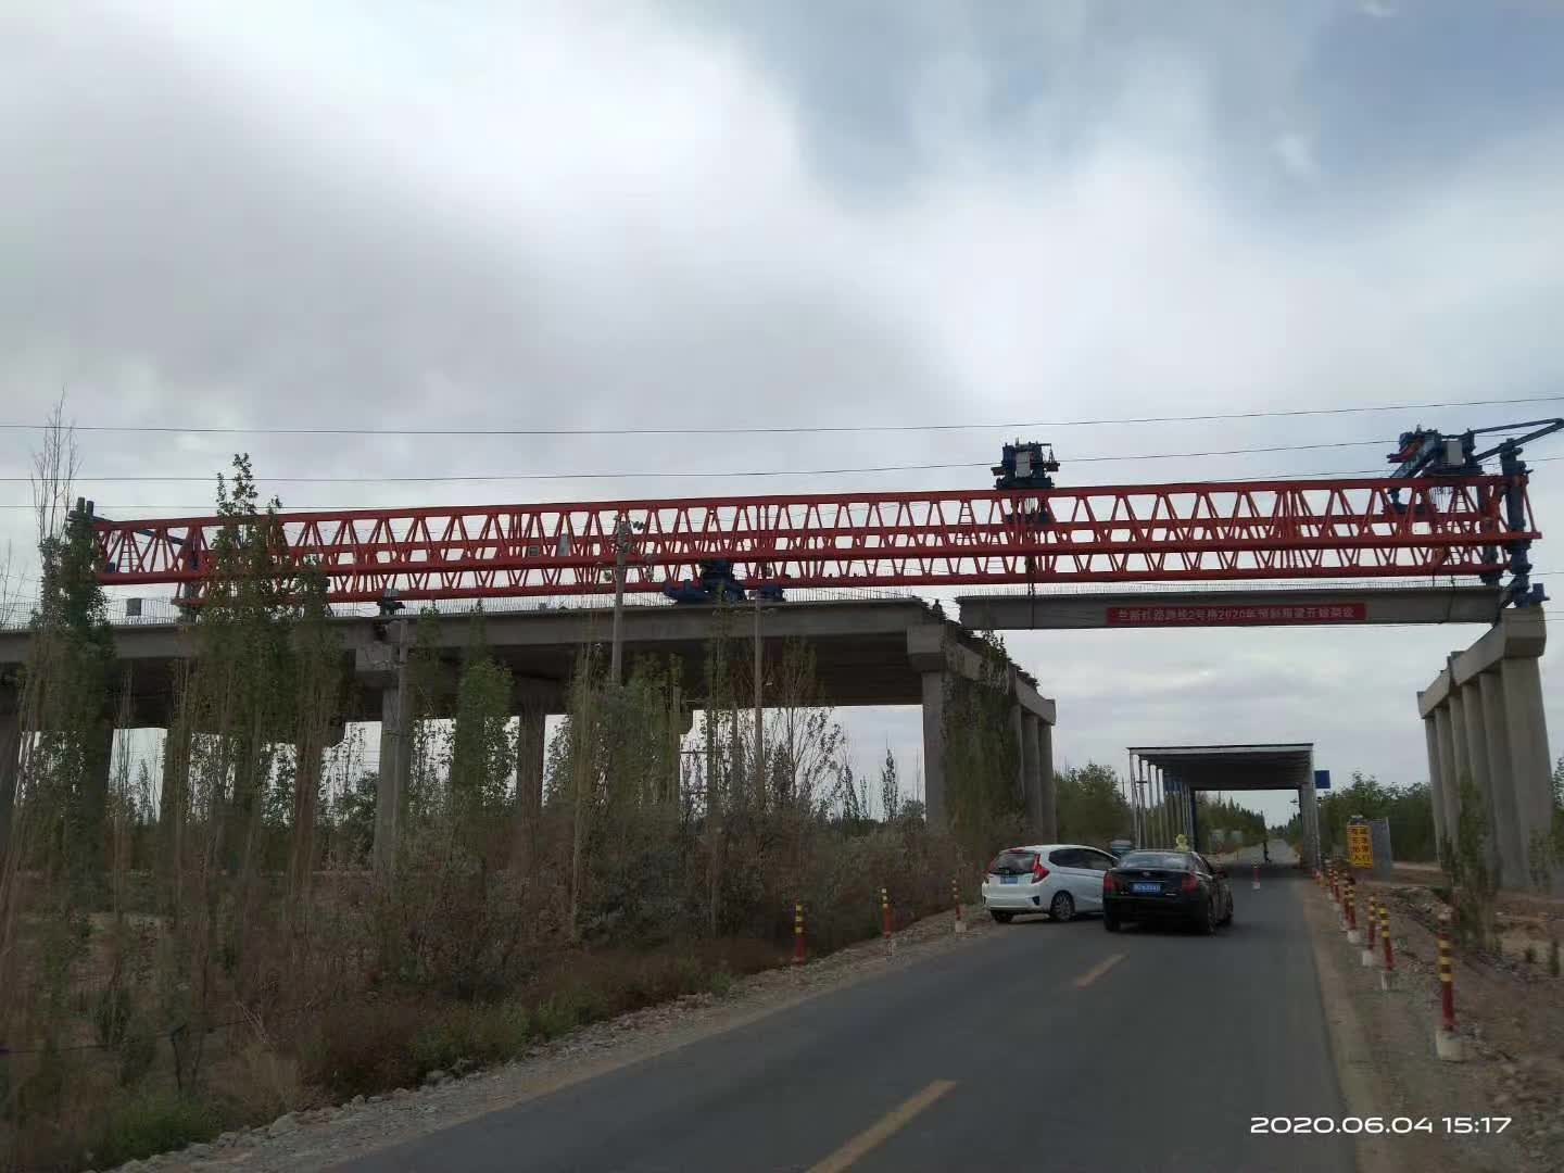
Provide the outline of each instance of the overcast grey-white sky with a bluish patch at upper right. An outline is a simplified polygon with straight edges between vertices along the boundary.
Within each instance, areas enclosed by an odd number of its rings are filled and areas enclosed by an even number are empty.
[[[105,480],[83,491],[130,516],[205,510],[211,486],[116,477],[206,477],[236,444],[285,505],[951,488],[987,482],[1006,424],[1564,396],[1561,59],[1545,0],[8,0],[0,422],[64,391],[99,425],[1001,425],[84,433]],[[1387,446],[1148,457],[1558,411],[1037,438],[1065,485],[1132,483],[1373,469]],[[0,432],[17,565],[36,443]],[[1550,530],[1564,465],[1537,468]],[[730,475],[632,475],[691,471]],[[286,480],[538,472],[596,479]],[[1315,741],[1337,776],[1414,782],[1415,690],[1478,633],[1009,643],[1057,698],[1062,762]],[[863,765],[888,741],[913,773],[915,713],[851,727]]]

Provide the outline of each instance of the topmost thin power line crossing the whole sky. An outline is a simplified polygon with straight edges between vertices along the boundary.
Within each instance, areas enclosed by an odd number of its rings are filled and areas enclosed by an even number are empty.
[[[1200,424],[1223,419],[1298,419],[1304,416],[1353,416],[1375,411],[1425,411],[1444,407],[1498,407],[1509,404],[1556,404],[1556,396],[1506,399],[1453,399],[1437,404],[1376,404],[1370,407],[1320,407],[1267,411],[1212,411],[1187,416],[1123,416],[1117,419],[1054,419],[993,424],[795,424],[744,427],[529,427],[529,429],[402,429],[402,427],[189,427],[172,424],[74,424],[77,432],[136,432],[192,436],[765,436],[832,435],[852,432],[998,432],[1040,427],[1106,427],[1110,424]],[[0,430],[38,430],[45,424],[0,424]]]

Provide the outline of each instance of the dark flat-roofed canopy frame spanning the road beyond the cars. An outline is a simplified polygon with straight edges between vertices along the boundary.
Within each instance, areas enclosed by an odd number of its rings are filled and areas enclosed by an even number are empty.
[[[1168,845],[1184,834],[1200,848],[1203,835],[1195,818],[1195,795],[1201,790],[1297,790],[1304,859],[1309,865],[1320,859],[1311,741],[1131,746],[1129,777],[1140,843]]]

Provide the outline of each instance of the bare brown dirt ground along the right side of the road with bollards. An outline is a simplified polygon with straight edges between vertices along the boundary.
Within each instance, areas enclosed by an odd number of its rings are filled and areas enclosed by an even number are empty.
[[[1412,882],[1359,884],[1364,901],[1373,895],[1390,910],[1397,968],[1389,992],[1379,987],[1378,959],[1362,968],[1361,946],[1347,943],[1329,896],[1317,887],[1301,893],[1351,1109],[1426,1117],[1433,1126],[1365,1143],[1364,1170],[1564,1170],[1564,981],[1547,968],[1547,945],[1564,931],[1564,901],[1503,896],[1505,956],[1456,949],[1456,1034],[1467,1059],[1451,1064],[1434,1054],[1444,904],[1428,885],[1437,873],[1398,870],[1398,877]],[[1447,1117],[1511,1123],[1498,1135],[1456,1135]]]

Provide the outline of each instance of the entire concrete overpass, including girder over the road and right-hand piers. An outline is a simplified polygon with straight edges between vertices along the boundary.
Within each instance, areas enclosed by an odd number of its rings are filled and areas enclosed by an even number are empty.
[[[845,597],[788,601],[759,613],[763,652],[773,662],[787,640],[804,641],[815,654],[821,694],[840,707],[920,705],[923,710],[924,793],[932,820],[946,807],[945,694],[951,679],[976,679],[988,655],[978,630],[1081,630],[1140,627],[1261,626],[1400,626],[1484,624],[1489,632],[1465,652],[1453,652],[1445,669],[1422,693],[1428,746],[1428,777],[1434,820],[1442,838],[1459,820],[1462,779],[1483,796],[1490,835],[1490,860],[1505,887],[1526,887],[1541,862],[1536,835],[1551,818],[1551,757],[1537,662],[1547,643],[1541,607],[1505,608],[1500,588],[1440,583],[1317,583],[1303,586],[1198,590],[1081,590],[968,594],[956,599],[960,622],[951,622],[920,599]],[[683,696],[696,707],[704,698],[704,657],[718,630],[713,607],[627,605],[626,657],[671,657],[682,674]],[[755,615],[741,605],[727,612],[730,637],[751,641]],[[336,619],[344,669],[355,680],[344,721],[378,721],[383,795],[405,785],[410,727],[400,719],[397,694],[399,630],[391,621],[377,632],[369,615]],[[565,712],[565,690],[585,646],[610,638],[607,607],[485,612],[494,655],[516,680],[521,719],[516,763],[518,802],[541,799],[544,719]],[[410,638],[410,635],[407,637]],[[460,613],[441,626],[441,646],[452,666],[468,643]],[[0,805],[16,780],[16,669],[25,662],[27,632],[0,632]],[[128,718],[138,727],[170,724],[174,668],[194,655],[192,632],[172,618],[116,627],[116,646],[128,669]],[[1020,752],[1017,791],[1024,796],[1034,829],[1057,834],[1053,729],[1056,704],[1042,696],[1037,679],[1013,662],[1004,665],[1013,698],[1012,727]],[[9,682],[9,683],[8,683]],[[164,755],[169,759],[178,755]],[[386,765],[389,763],[389,765]],[[1168,798],[1167,771],[1150,776],[1157,802]],[[177,782],[177,780],[175,780]],[[1312,774],[1297,785],[1312,798]],[[1221,788],[1236,790],[1237,785]],[[1555,881],[1556,884],[1558,881]]]

